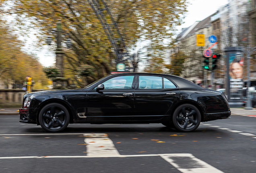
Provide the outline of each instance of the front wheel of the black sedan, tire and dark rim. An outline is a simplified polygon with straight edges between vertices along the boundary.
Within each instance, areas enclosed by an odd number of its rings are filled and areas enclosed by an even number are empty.
[[[69,123],[68,110],[59,103],[50,103],[41,109],[39,123],[47,132],[63,131]]]

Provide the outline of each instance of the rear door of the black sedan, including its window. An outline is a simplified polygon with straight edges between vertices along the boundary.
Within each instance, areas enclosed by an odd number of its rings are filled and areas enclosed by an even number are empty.
[[[134,120],[161,119],[179,92],[178,86],[165,77],[140,75],[136,80]]]

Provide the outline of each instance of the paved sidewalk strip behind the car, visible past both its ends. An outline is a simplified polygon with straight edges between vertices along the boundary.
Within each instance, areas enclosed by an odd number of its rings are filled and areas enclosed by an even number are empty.
[[[19,115],[19,108],[0,108],[0,115]],[[256,109],[231,108],[231,115],[256,115]]]

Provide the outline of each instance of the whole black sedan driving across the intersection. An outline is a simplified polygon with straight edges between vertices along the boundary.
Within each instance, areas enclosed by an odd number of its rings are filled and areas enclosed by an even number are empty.
[[[60,132],[69,123],[162,123],[191,132],[200,122],[230,115],[222,92],[168,74],[119,73],[83,89],[27,93],[19,121],[47,132]]]

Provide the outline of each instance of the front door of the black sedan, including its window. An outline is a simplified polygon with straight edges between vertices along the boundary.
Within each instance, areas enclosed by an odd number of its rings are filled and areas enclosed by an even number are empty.
[[[96,87],[87,93],[88,121],[127,121],[134,116],[134,75],[123,75],[103,82],[104,89]]]

